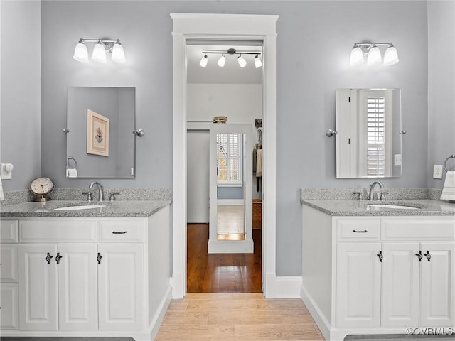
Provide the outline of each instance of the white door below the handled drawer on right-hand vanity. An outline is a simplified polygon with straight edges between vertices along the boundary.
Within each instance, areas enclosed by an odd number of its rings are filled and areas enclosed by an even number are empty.
[[[337,244],[336,325],[380,325],[380,243]]]

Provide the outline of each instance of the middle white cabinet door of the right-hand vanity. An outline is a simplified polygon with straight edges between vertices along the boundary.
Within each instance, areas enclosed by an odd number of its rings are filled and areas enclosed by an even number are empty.
[[[381,325],[419,325],[419,243],[382,244]]]

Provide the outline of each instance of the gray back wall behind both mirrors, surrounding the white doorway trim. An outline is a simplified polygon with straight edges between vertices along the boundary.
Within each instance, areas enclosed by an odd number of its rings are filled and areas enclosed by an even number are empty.
[[[65,178],[65,136],[60,132],[65,124],[68,86],[136,87],[137,126],[147,131],[137,141],[137,178],[102,183],[108,187],[171,187],[169,13],[279,15],[278,276],[301,274],[299,188],[366,187],[370,183],[335,178],[334,139],[326,138],[324,131],[335,124],[336,88],[402,88],[407,130],[403,176],[384,182],[386,187],[427,186],[427,125],[432,117],[427,115],[425,1],[43,1],[41,11],[41,164],[43,173],[59,187],[85,187],[89,182]],[[71,58],[79,38],[100,37],[122,40],[126,65],[83,65]],[[392,41],[400,63],[392,67],[350,67],[350,49],[363,40]],[[444,123],[438,129],[438,134],[454,134],[453,126]],[[15,153],[19,150],[14,147]],[[23,157],[31,155],[28,152]],[[27,181],[16,188],[25,188]]]

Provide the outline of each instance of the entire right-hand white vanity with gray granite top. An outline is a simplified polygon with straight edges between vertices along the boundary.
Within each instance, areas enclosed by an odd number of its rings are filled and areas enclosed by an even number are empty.
[[[455,330],[454,204],[301,203],[301,298],[326,340],[418,327]]]

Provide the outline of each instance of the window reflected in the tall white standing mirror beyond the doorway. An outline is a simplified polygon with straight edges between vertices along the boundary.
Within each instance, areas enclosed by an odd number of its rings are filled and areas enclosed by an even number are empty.
[[[217,134],[218,183],[240,183],[242,134]]]

